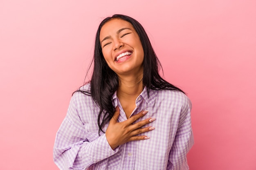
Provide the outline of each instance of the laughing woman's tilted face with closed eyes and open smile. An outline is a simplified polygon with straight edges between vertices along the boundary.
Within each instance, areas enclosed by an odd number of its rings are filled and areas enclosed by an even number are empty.
[[[143,73],[144,51],[130,22],[112,19],[101,28],[99,40],[108,66],[117,75]]]

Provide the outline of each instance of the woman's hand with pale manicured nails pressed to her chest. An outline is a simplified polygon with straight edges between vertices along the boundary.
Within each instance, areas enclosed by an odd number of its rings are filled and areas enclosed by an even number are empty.
[[[117,106],[116,111],[109,122],[108,128],[106,130],[106,138],[110,147],[114,150],[117,146],[125,144],[128,141],[137,141],[149,139],[147,136],[135,136],[150,130],[154,130],[154,127],[148,126],[146,128],[141,128],[142,126],[149,124],[154,121],[154,118],[148,118],[142,121],[132,124],[140,117],[143,117],[148,113],[147,110],[141,111],[137,115],[130,117],[126,121],[117,122],[119,117],[119,107]]]

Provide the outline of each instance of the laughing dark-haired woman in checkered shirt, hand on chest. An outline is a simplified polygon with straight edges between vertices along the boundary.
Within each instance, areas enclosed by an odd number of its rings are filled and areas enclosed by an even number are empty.
[[[160,77],[139,22],[113,15],[99,25],[92,79],[70,101],[54,144],[61,170],[187,170],[191,102]]]

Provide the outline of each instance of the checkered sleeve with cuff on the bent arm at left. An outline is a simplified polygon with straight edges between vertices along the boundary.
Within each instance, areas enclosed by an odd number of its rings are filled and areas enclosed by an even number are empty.
[[[118,148],[112,150],[105,134],[99,137],[97,133],[86,132],[77,107],[76,97],[73,96],[56,134],[54,162],[60,170],[87,169],[118,151]]]

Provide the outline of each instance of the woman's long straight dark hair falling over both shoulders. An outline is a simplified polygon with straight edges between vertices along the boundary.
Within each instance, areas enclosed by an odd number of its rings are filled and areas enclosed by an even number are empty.
[[[144,50],[144,61],[143,61],[143,86],[147,88],[147,93],[149,95],[149,90],[173,90],[173,91],[181,91],[180,88],[170,84],[165,81],[160,75],[159,71],[162,69],[162,66],[153,50],[153,47],[148,39],[148,35],[146,31],[141,26],[141,24],[126,15],[115,14],[112,17],[105,18],[100,24],[96,33],[95,46],[94,46],[94,68],[92,73],[92,78],[90,82],[90,90],[83,91],[78,90],[79,92],[84,93],[85,95],[91,95],[94,99],[95,103],[99,106],[100,111],[98,115],[98,126],[99,132],[103,131],[103,127],[108,124],[110,119],[113,117],[115,112],[115,106],[112,102],[112,96],[117,91],[119,86],[119,78],[117,74],[110,69],[107,62],[105,61],[101,44],[99,40],[99,34],[101,28],[106,22],[119,18],[121,20],[125,20],[130,22],[134,27],[135,31],[138,33],[143,50]],[[89,83],[87,82],[87,83]],[[86,83],[86,84],[87,84]],[[103,116],[103,120],[101,121],[101,117]]]

